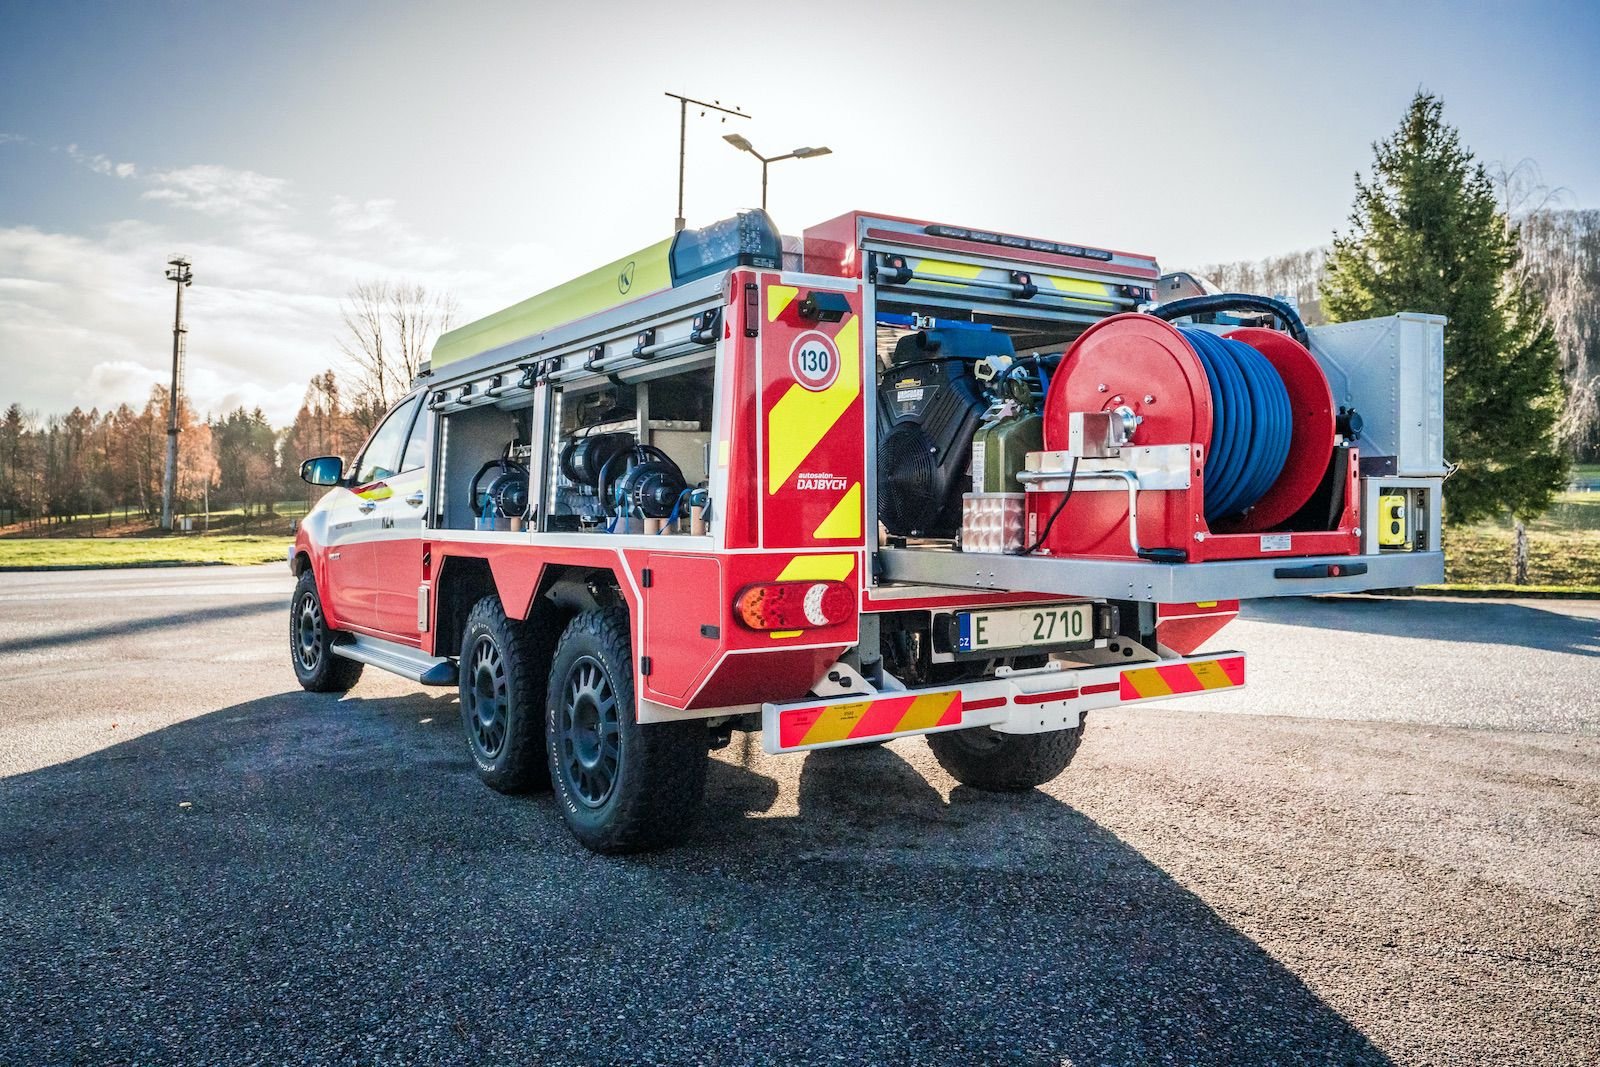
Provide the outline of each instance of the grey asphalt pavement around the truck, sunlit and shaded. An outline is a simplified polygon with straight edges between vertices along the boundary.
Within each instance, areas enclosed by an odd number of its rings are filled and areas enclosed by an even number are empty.
[[[0,1064],[1600,1062],[1595,605],[1253,605],[1018,798],[736,734],[606,859],[290,589],[0,576]]]

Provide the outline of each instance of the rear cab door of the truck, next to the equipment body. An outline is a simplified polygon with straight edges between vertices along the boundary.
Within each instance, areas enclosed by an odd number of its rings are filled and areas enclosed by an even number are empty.
[[[376,627],[408,645],[421,643],[418,585],[422,584],[422,515],[427,499],[427,459],[432,419],[424,408],[411,426],[400,470],[389,478],[394,493],[378,504],[368,555]]]

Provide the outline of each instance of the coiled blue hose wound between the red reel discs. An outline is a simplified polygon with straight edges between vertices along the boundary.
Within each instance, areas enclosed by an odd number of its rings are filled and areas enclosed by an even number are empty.
[[[1267,357],[1243,341],[1179,326],[1211,384],[1211,450],[1205,458],[1206,522],[1232,518],[1283,474],[1294,414],[1290,390]]]

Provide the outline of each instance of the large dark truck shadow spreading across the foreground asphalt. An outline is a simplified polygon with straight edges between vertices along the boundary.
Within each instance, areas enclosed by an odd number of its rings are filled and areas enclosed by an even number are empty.
[[[600,857],[458,713],[282,694],[0,779],[0,1062],[1389,1062],[1115,833],[946,801],[917,741],[723,753],[685,846]]]

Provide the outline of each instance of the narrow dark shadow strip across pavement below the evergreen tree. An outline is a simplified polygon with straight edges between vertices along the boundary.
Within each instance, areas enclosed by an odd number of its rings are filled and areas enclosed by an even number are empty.
[[[1570,656],[1600,656],[1600,619],[1563,614],[1560,601],[1550,601],[1550,608],[1544,609],[1496,600],[1285,597],[1248,601],[1240,617],[1376,637],[1514,645]]]

